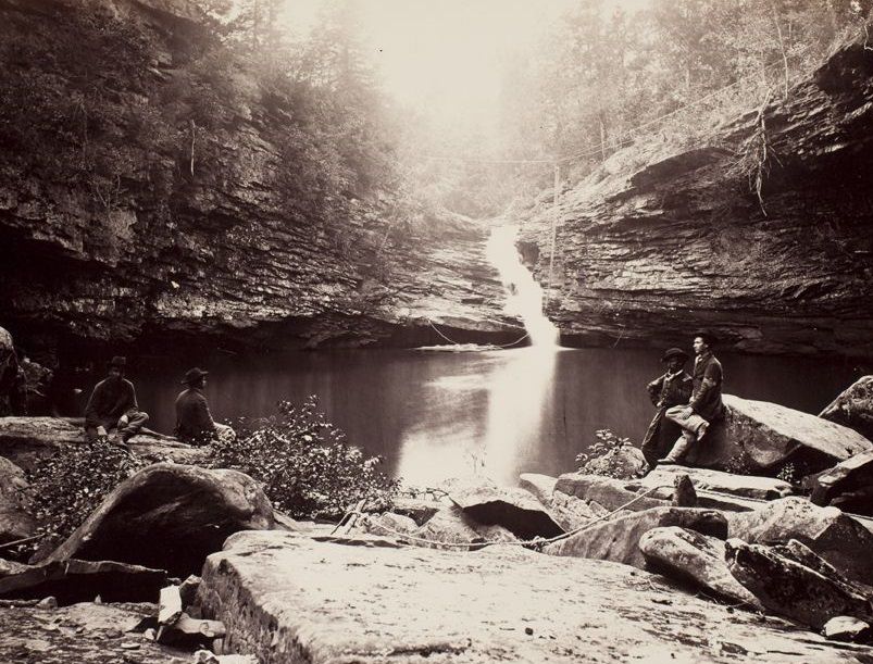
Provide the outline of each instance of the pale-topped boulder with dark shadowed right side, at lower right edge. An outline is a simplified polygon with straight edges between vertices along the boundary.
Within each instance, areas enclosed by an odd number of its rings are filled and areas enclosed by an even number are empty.
[[[731,514],[729,524],[731,537],[749,543],[799,540],[846,577],[873,584],[873,533],[836,508],[788,497]]]

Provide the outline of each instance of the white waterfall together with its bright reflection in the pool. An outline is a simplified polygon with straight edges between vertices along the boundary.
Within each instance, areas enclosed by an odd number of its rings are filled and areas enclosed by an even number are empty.
[[[531,346],[467,353],[458,373],[428,381],[431,413],[401,443],[398,475],[410,485],[465,475],[515,484],[521,461],[537,456],[558,330],[542,315],[542,290],[521,262],[516,234],[495,228],[487,255],[507,289],[507,313],[524,322]]]

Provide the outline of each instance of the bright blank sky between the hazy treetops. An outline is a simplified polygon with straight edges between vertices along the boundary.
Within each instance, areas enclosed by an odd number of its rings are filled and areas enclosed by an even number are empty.
[[[288,0],[305,29],[331,0]],[[650,0],[607,0],[638,9]],[[534,46],[575,0],[357,0],[362,32],[398,101],[459,120],[495,116],[501,61]]]

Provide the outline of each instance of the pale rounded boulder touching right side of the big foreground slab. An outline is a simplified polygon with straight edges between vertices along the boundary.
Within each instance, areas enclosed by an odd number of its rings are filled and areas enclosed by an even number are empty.
[[[675,526],[652,528],[639,539],[639,550],[654,572],[690,581],[718,599],[762,609],[727,568],[724,540]]]

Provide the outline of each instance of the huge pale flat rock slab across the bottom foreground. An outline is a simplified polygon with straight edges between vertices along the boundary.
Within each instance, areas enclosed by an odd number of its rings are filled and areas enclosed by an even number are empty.
[[[239,533],[198,600],[262,664],[851,662],[822,637],[674,592],[624,565],[520,548],[477,553]]]

